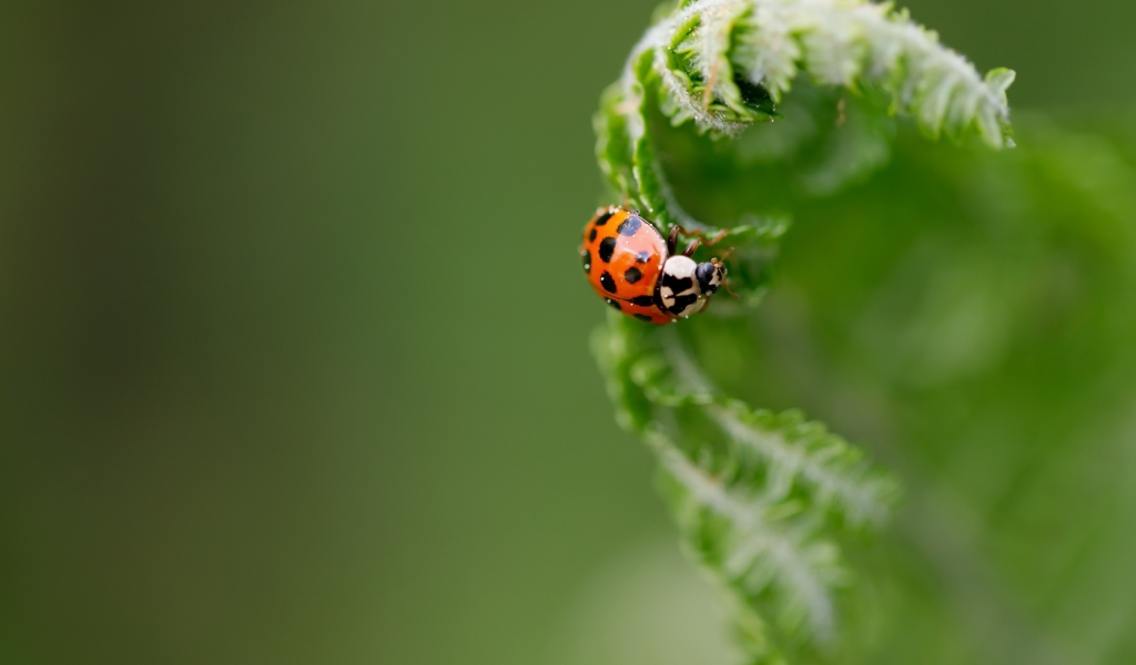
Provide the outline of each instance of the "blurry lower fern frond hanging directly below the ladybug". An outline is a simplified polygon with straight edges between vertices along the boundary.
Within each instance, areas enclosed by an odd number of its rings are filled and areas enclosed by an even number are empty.
[[[835,594],[850,579],[832,534],[885,520],[894,481],[799,414],[752,412],[722,395],[674,330],[616,315],[593,350],[619,421],[660,461],[687,545],[736,595],[749,620],[740,624],[760,626],[754,654],[832,638]]]

